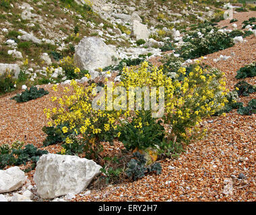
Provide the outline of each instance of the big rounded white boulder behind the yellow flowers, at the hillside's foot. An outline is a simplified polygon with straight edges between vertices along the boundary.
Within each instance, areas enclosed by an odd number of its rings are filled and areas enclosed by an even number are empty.
[[[119,56],[101,38],[84,37],[75,48],[74,62],[81,70],[94,70],[115,64]]]

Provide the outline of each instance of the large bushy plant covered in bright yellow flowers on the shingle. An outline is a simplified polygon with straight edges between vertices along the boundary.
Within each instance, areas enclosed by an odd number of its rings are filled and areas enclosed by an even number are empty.
[[[127,149],[154,148],[164,138],[188,143],[205,132],[200,128],[203,118],[227,102],[223,76],[197,62],[189,70],[181,67],[177,71],[182,79],[172,79],[145,61],[138,69],[124,67],[115,85],[106,78],[101,91],[95,90],[96,83],[82,85],[72,80],[62,97],[52,98],[57,107],[45,112],[53,126],[69,125],[62,128],[63,133],[82,136],[87,157],[93,159],[102,149],[100,142],[109,136],[123,140]],[[53,88],[57,91],[56,85]],[[141,93],[140,100],[137,93]],[[133,140],[127,138],[132,132],[136,134]]]

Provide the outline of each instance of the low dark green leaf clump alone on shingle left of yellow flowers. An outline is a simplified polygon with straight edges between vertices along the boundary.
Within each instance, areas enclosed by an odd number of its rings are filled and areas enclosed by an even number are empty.
[[[11,97],[11,99],[14,99],[18,103],[30,101],[32,99],[37,99],[39,97],[42,97],[44,95],[49,94],[49,91],[45,91],[43,88],[37,88],[37,87],[30,87],[30,89],[25,89],[21,94],[17,94],[14,97]]]

